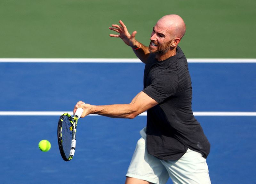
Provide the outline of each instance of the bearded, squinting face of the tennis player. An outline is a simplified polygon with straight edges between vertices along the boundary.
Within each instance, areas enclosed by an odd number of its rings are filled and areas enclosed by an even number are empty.
[[[150,53],[165,54],[170,50],[171,41],[166,29],[163,29],[156,24],[151,33],[148,50]]]

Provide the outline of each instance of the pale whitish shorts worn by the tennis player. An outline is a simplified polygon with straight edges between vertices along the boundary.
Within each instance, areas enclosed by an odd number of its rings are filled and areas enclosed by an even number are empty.
[[[140,131],[127,177],[165,184],[169,177],[174,184],[210,184],[206,159],[199,152],[188,151],[179,160],[160,160],[148,154],[146,128]]]

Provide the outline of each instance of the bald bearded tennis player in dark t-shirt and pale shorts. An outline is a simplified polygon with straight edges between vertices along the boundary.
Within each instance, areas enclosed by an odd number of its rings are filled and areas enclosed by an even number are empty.
[[[153,27],[149,46],[135,39],[122,21],[110,30],[132,47],[145,63],[144,89],[129,104],[95,106],[79,101],[81,117],[99,114],[108,117],[134,118],[147,110],[147,127],[140,131],[126,184],[211,183],[206,158],[210,143],[193,116],[192,87],[188,63],[178,44],[186,25],[178,15],[166,15]]]

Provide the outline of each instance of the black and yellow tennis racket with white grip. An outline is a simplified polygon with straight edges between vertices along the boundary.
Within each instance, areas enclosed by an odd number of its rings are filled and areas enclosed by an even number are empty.
[[[70,161],[74,157],[76,148],[76,125],[82,113],[83,109],[78,108],[74,117],[68,113],[64,113],[60,116],[58,122],[58,144],[60,155],[65,161]]]

